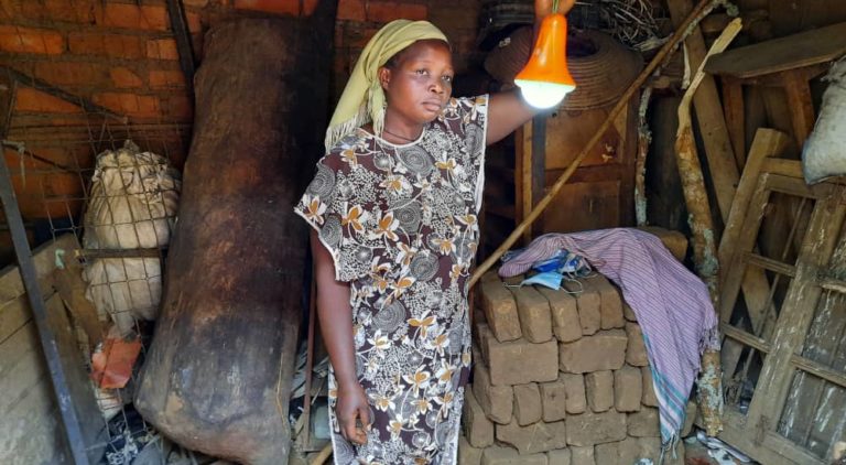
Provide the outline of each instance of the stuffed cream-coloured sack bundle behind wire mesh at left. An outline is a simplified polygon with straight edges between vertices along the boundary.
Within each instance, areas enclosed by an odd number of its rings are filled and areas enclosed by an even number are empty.
[[[181,176],[164,156],[123,148],[97,155],[85,215],[87,249],[151,249],[166,246],[176,218]],[[88,262],[86,298],[121,334],[135,318],[153,320],[162,294],[159,258],[100,258]]]

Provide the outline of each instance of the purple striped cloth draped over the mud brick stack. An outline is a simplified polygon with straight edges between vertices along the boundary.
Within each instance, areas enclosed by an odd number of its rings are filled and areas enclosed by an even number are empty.
[[[499,275],[528,271],[560,249],[584,257],[622,290],[643,331],[664,446],[677,441],[685,404],[705,349],[719,349],[717,316],[708,290],[661,240],[638,229],[547,234],[508,260]]]

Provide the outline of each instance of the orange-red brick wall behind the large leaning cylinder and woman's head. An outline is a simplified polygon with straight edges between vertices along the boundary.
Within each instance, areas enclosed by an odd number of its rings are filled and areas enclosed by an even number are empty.
[[[300,15],[327,0],[183,0],[198,62],[203,34],[231,17]],[[367,40],[397,18],[427,19],[451,37],[458,71],[478,63],[476,24],[481,0],[339,0],[332,93],[340,95]],[[94,155],[127,133],[144,150],[181,166],[193,109],[178,63],[165,0],[0,0],[0,65],[41,79],[118,115],[128,123],[86,116],[78,105],[21,86],[8,139],[82,176],[7,149],[25,219],[73,223],[84,204]],[[200,63],[202,65],[202,63]],[[315,130],[322,130],[316,128]],[[26,175],[19,173],[19,166]],[[0,218],[0,221],[2,219]],[[7,240],[0,236],[0,257]],[[6,261],[3,261],[4,263]],[[0,263],[2,264],[2,263]]]

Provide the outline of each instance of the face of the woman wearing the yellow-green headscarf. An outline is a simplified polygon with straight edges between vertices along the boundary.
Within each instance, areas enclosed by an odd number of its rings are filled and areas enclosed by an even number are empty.
[[[388,110],[410,123],[426,123],[441,113],[453,95],[453,55],[443,41],[417,41],[395,63],[379,68]]]

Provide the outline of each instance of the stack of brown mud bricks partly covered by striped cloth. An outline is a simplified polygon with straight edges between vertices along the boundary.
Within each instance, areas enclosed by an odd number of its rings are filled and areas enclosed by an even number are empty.
[[[459,463],[657,464],[647,348],[619,289],[600,274],[561,291],[505,284],[491,272],[477,289]]]

